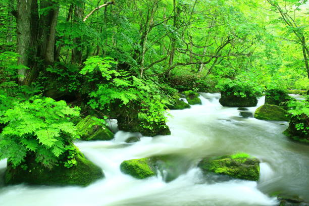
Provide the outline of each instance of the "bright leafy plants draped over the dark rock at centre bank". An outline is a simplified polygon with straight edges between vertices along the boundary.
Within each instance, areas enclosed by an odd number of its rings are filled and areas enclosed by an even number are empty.
[[[166,122],[165,108],[168,100],[163,97],[155,81],[116,71],[112,66],[116,62],[111,58],[92,57],[85,64],[81,74],[90,75],[92,78],[88,77],[89,81],[95,81],[94,74],[100,74],[102,78],[96,84],[97,89],[90,92],[88,104],[91,108],[110,111],[112,104],[118,104],[116,107],[126,110],[134,102],[139,107],[137,113],[140,126],[151,130],[153,124]]]

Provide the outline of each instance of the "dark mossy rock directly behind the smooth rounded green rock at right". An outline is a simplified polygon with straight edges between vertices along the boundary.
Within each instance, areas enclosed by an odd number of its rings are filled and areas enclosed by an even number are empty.
[[[287,92],[281,89],[269,89],[265,92],[265,104],[279,106],[283,102],[291,100]]]

